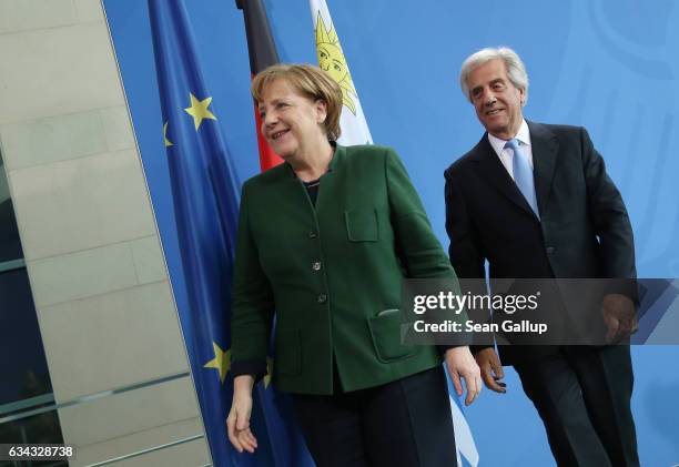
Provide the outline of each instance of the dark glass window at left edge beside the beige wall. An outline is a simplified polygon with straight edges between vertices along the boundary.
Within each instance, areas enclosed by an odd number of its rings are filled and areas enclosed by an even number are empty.
[[[28,416],[53,405],[52,384],[23,266],[23,252],[0,155],[0,443],[62,444],[57,410]],[[21,417],[21,414],[27,416]],[[1,461],[2,466],[68,466],[65,461]]]

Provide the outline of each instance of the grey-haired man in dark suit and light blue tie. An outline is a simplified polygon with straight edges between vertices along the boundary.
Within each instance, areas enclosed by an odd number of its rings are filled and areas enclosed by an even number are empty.
[[[620,193],[582,128],[527,122],[528,78],[510,49],[484,49],[460,72],[486,133],[445,172],[450,262],[460,278],[636,276]],[[631,298],[630,298],[631,297]],[[611,341],[634,332],[634,294],[608,293]],[[559,466],[638,466],[627,345],[474,348],[488,388],[514,365]]]

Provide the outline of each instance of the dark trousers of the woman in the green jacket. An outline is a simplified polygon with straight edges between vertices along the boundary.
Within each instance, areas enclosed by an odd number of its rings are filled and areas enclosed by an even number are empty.
[[[457,465],[442,366],[368,389],[293,395],[293,405],[318,467]]]

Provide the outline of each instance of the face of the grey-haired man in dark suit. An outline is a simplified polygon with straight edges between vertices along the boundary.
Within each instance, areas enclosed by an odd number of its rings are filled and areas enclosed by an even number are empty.
[[[467,84],[476,115],[488,133],[501,140],[516,136],[525,91],[509,81],[505,62],[496,59],[477,67]]]

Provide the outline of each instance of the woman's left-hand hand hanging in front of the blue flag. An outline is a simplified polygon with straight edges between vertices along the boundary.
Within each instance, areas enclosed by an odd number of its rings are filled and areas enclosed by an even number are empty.
[[[252,414],[252,375],[236,376],[233,380],[233,402],[226,417],[229,440],[239,453],[246,450],[254,453],[257,438],[250,430],[250,415]]]

